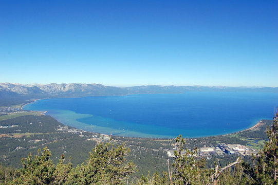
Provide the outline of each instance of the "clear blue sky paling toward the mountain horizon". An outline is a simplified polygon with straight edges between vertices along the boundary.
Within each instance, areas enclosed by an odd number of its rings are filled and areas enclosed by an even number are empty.
[[[278,86],[278,1],[0,1],[0,82]]]

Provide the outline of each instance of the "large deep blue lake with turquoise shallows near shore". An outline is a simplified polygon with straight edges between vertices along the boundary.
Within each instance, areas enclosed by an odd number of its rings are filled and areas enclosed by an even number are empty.
[[[276,93],[190,92],[43,99],[26,110],[47,111],[85,131],[132,137],[200,137],[233,133],[272,119]]]

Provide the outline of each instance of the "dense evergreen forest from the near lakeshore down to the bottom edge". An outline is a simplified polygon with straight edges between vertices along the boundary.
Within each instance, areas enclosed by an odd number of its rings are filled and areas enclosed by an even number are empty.
[[[277,115],[275,120],[274,124],[273,121],[263,120],[264,124],[260,129],[230,135],[205,138],[180,136],[174,140],[107,137],[68,127],[43,115],[6,119],[0,122],[2,126],[0,182],[4,184],[260,184],[260,178],[267,178],[266,184],[272,184],[276,183],[275,175],[269,177],[267,176],[269,174],[257,174],[261,173],[260,162],[265,163],[266,159],[271,162],[269,156],[262,158],[268,154],[269,147],[271,152],[274,149],[274,156],[277,154],[277,145],[273,145],[277,137],[275,126]],[[265,133],[267,125],[272,127]],[[224,155],[205,159],[196,155],[197,148],[215,146],[219,142],[246,145],[249,142],[247,139],[265,138],[270,140],[256,158]],[[175,157],[169,158],[167,151],[173,147],[177,147]],[[238,157],[243,160],[237,160]],[[231,164],[233,165],[230,168],[221,171]],[[275,165],[272,162],[268,170],[271,171]],[[263,167],[266,165],[263,164]],[[219,177],[215,179],[216,176]],[[195,180],[192,181],[193,179]]]

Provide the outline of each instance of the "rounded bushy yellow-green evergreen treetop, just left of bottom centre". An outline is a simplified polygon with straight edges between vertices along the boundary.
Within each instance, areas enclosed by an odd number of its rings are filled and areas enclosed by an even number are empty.
[[[90,153],[86,163],[78,165],[69,174],[65,184],[124,184],[124,179],[136,172],[132,161],[125,162],[130,150],[122,144],[99,144]]]

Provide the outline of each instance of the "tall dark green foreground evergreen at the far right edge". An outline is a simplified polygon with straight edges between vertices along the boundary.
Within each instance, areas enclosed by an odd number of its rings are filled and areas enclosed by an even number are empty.
[[[267,130],[269,141],[264,149],[254,156],[254,167],[243,163],[244,172],[250,175],[256,184],[278,184],[278,113],[275,114],[273,125]]]

